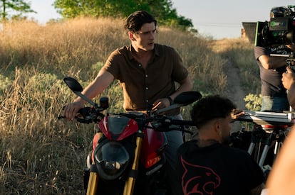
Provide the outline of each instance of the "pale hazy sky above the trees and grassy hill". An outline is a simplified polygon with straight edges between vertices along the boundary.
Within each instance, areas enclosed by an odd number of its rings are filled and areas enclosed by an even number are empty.
[[[41,24],[61,18],[53,7],[54,0],[28,0],[30,13]],[[239,38],[242,22],[269,21],[274,6],[295,5],[294,0],[172,0],[179,16],[190,18],[201,35],[214,39]]]

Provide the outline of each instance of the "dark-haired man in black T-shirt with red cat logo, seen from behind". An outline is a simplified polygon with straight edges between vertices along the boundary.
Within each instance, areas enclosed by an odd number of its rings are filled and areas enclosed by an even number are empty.
[[[233,118],[242,116],[232,101],[207,96],[192,108],[198,138],[177,152],[177,194],[260,194],[264,174],[244,150],[227,145]]]

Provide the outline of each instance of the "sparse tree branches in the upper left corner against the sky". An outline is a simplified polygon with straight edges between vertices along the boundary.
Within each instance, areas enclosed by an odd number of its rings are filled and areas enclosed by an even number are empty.
[[[0,0],[1,20],[6,21],[9,16],[9,11],[14,11],[16,14],[11,15],[11,18],[20,18],[22,13],[36,13],[31,9],[31,5],[22,0]]]

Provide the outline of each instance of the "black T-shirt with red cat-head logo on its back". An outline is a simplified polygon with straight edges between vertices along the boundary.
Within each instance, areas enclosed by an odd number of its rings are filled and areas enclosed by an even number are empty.
[[[243,195],[264,182],[262,169],[244,151],[219,143],[180,146],[176,167],[177,194]]]

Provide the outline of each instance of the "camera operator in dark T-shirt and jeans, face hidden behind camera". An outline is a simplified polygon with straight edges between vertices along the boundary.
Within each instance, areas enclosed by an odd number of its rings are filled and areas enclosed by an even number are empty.
[[[284,17],[285,7],[274,7],[270,11],[271,18]],[[282,112],[289,110],[289,102],[281,78],[286,72],[286,57],[271,55],[287,55],[292,50],[291,45],[269,45],[254,47],[254,55],[260,69],[262,82],[261,111]]]

